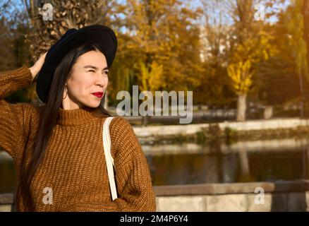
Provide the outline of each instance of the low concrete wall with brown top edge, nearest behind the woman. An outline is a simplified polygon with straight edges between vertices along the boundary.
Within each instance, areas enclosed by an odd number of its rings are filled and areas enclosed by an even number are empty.
[[[154,186],[154,193],[158,212],[309,211],[309,180]],[[0,194],[0,211],[12,205],[13,194]]]

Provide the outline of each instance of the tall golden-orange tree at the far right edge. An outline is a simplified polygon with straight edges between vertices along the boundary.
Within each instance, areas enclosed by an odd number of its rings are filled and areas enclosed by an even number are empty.
[[[306,91],[308,76],[301,6],[301,1],[292,1],[278,13],[277,23],[265,27],[265,32],[274,37],[270,41],[272,56],[258,64],[257,76],[260,81],[257,85],[259,98],[265,104],[300,104],[303,117],[303,105],[309,95]]]

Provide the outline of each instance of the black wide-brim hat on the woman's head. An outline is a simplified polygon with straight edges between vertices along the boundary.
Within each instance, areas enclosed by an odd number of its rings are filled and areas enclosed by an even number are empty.
[[[116,56],[118,45],[116,35],[111,28],[107,28],[104,25],[90,25],[78,30],[75,28],[67,30],[49,49],[42,69],[37,74],[36,90],[42,102],[47,102],[54,71],[63,57],[65,57],[71,49],[79,47],[86,42],[99,45],[107,59],[107,66],[111,67]]]

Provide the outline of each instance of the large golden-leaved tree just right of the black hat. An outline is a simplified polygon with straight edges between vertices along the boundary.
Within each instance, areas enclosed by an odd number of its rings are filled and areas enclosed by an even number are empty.
[[[163,68],[160,82],[149,78],[147,86],[157,90],[193,88],[198,83],[199,32],[192,20],[199,11],[190,10],[179,0],[128,0],[123,13],[128,37],[126,52],[134,56],[131,68],[136,81],[145,83],[140,76],[143,67],[153,71],[156,64],[159,71]]]

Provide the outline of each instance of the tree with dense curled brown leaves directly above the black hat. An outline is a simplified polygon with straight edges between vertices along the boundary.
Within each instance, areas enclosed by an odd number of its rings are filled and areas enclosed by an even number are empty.
[[[27,41],[34,59],[46,52],[70,28],[78,29],[96,23],[111,25],[116,5],[112,0],[24,0],[24,4],[32,29],[27,35]],[[52,20],[45,20],[47,18],[44,16],[51,15]]]

